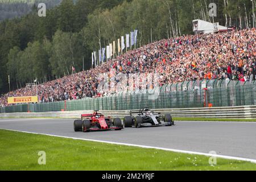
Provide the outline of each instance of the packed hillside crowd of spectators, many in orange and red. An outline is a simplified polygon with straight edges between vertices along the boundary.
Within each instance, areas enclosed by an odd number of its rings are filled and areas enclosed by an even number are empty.
[[[256,30],[184,35],[147,44],[96,68],[38,85],[39,102],[104,97],[118,92],[119,89],[114,92],[97,89],[102,73],[109,74],[112,69],[115,74],[124,73],[127,76],[158,74],[159,85],[204,79],[253,81],[256,75]],[[0,106],[7,105],[7,97],[35,95],[36,87],[26,86],[3,94]]]

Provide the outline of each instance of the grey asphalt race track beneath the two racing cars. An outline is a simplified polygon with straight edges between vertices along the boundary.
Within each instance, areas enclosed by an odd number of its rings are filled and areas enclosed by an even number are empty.
[[[0,119],[0,129],[256,159],[256,122],[176,122],[172,127],[75,133],[73,119]]]

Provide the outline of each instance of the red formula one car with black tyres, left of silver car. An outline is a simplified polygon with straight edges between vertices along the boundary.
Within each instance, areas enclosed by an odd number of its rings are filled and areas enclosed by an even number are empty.
[[[89,131],[104,131],[104,130],[122,130],[123,124],[120,118],[104,117],[103,114],[82,114],[81,119],[74,121],[74,130],[89,132]]]

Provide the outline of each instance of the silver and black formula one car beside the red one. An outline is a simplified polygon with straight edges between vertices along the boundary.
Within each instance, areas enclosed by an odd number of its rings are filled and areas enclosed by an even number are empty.
[[[171,114],[154,113],[149,109],[142,109],[137,112],[130,111],[130,115],[124,119],[125,127],[151,127],[151,126],[172,126],[174,121]]]

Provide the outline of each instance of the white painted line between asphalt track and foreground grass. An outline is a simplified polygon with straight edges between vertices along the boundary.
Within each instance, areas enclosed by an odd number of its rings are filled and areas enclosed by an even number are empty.
[[[16,132],[28,133],[28,134],[46,135],[46,136],[50,136],[50,137],[60,137],[60,138],[69,138],[69,139],[76,139],[76,140],[85,140],[85,141],[90,141],[90,142],[101,142],[101,143],[109,143],[109,144],[119,144],[119,145],[130,146],[130,147],[150,148],[150,149],[157,149],[157,150],[164,150],[164,151],[171,151],[171,152],[179,152],[179,153],[183,153],[183,154],[204,155],[204,156],[210,156],[210,157],[214,156],[216,158],[223,158],[223,159],[230,159],[230,160],[241,160],[241,161],[256,163],[256,159],[246,159],[246,158],[239,158],[239,157],[234,157],[234,156],[207,154],[207,153],[203,153],[203,152],[176,150],[176,149],[162,148],[162,147],[143,146],[143,145],[139,145],[139,144],[108,142],[108,141],[103,141],[103,140],[93,140],[93,139],[84,139],[84,138],[75,138],[75,137],[64,137],[64,136],[59,136],[59,135],[34,133],[34,132],[28,132],[28,131],[19,131],[19,130],[10,130],[10,129],[2,129],[2,130],[16,131]]]

